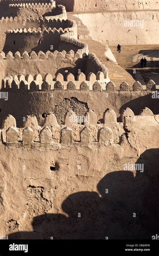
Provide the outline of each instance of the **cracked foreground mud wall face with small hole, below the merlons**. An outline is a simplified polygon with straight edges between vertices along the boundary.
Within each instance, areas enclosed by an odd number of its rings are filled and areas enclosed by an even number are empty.
[[[159,228],[158,123],[153,115],[124,117],[119,144],[111,130],[92,142],[88,128],[81,142],[73,142],[66,128],[52,146],[0,144],[1,234],[151,239]],[[144,171],[124,170],[128,162],[144,164]]]

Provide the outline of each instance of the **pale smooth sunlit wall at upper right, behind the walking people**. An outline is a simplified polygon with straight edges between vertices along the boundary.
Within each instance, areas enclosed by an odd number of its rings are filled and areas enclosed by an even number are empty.
[[[89,30],[89,35],[106,44],[158,44],[157,11],[111,11],[75,14]],[[127,23],[125,22],[127,21]],[[128,23],[133,21],[133,23]],[[122,26],[122,31],[119,29]]]

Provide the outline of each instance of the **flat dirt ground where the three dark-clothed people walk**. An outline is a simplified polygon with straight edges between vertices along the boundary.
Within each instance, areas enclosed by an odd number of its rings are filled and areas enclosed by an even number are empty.
[[[124,68],[136,81],[146,85],[152,79],[159,85],[159,45],[121,45],[121,53],[117,45],[109,46],[119,66]],[[146,68],[141,68],[140,60],[147,59]]]

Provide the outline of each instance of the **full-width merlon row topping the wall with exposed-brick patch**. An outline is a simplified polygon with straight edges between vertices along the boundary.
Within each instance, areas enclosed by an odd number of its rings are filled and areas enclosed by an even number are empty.
[[[67,56],[67,53],[66,53]],[[66,57],[65,56],[65,57]],[[44,58],[44,53],[39,55],[39,58]],[[62,53],[58,53],[56,58],[63,57]],[[97,75],[90,72],[88,77],[84,73],[80,73],[77,76],[77,81],[73,74],[68,73],[66,75],[66,81],[64,81],[64,76],[61,73],[57,73],[55,79],[49,73],[44,77],[41,74],[36,74],[34,77],[31,74],[26,76],[19,74],[14,76],[6,76],[2,79],[1,90],[30,90],[30,91],[39,91],[39,90],[84,90],[84,91],[106,91],[106,92],[129,92],[129,85],[126,82],[120,84],[120,89],[115,90],[115,84],[113,82],[107,82],[107,79],[104,78],[104,73],[99,71]],[[135,82],[133,84],[133,91],[137,92],[142,91],[142,85],[140,82]],[[156,91],[156,85],[153,80],[150,80],[147,83],[146,90]],[[145,90],[144,90],[145,91]]]

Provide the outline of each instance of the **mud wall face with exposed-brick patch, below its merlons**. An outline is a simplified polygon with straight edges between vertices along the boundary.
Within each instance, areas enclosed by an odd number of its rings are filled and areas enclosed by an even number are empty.
[[[110,85],[112,86],[111,83]],[[155,89],[153,90],[155,91]],[[153,99],[152,91],[149,90],[88,91],[88,87],[87,90],[57,89],[38,92],[10,90],[8,100],[1,99],[0,123],[10,113],[16,118],[18,126],[22,126],[23,117],[32,114],[42,124],[44,120],[42,115],[53,112],[58,123],[61,124],[64,122],[64,116],[68,110],[73,110],[77,115],[83,116],[89,109],[94,110],[97,119],[103,122],[101,119],[107,108],[112,108],[115,111],[120,122],[120,114],[126,107],[132,109],[135,115],[139,115],[142,108],[149,107],[156,115],[158,114],[158,99]]]

